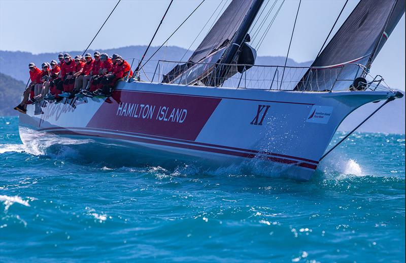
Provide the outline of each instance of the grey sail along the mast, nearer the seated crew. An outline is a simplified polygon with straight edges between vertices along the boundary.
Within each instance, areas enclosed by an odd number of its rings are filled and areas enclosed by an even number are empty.
[[[220,62],[224,55],[229,54],[229,47],[236,41],[235,38],[241,34],[244,35],[244,39],[238,45],[241,46],[239,53],[243,55],[241,58],[233,56],[233,60],[235,62],[238,60],[239,63],[253,64],[252,58],[255,60],[256,52],[247,44],[249,42],[247,31],[262,2],[263,0],[233,0],[190,56],[187,63],[177,65],[163,77],[162,82],[194,84],[197,81],[202,81],[207,84],[213,71],[218,70],[214,63]],[[247,61],[244,60],[245,57]],[[241,69],[238,70],[241,71]]]

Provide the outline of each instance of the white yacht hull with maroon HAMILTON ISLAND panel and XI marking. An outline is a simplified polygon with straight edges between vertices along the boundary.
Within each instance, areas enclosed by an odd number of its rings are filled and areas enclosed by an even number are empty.
[[[72,140],[114,144],[124,147],[121,154],[148,163],[210,160],[225,166],[260,159],[281,167],[284,176],[309,180],[344,118],[388,96],[393,93],[122,82],[111,98],[76,102],[76,108],[48,104],[44,114],[33,115],[34,106],[28,106],[20,114],[20,137],[31,148]]]

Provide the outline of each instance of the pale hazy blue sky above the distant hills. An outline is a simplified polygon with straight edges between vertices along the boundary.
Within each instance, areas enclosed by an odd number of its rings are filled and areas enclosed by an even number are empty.
[[[169,0],[122,0],[91,48],[147,45],[169,2]],[[153,45],[161,45],[200,2],[200,0],[175,0]],[[281,0],[277,6],[280,2]],[[83,50],[116,3],[117,1],[107,0],[0,0],[0,49],[32,53]],[[220,0],[207,0],[168,41],[167,45],[189,48],[203,28],[191,46],[191,49],[196,48],[210,29],[217,14],[228,3],[229,1],[226,3]],[[303,0],[289,57],[298,62],[313,60],[344,3],[345,0]],[[357,3],[356,0],[349,1],[336,29]],[[268,7],[272,4],[273,1],[270,1]],[[285,1],[273,26],[257,50],[258,55],[286,56],[297,5],[298,0]],[[208,22],[218,6],[217,12]],[[208,23],[204,28],[206,22]],[[403,15],[372,68],[373,74],[383,75],[388,84],[402,90],[404,90],[405,72],[404,31]],[[258,39],[253,42],[255,41]]]

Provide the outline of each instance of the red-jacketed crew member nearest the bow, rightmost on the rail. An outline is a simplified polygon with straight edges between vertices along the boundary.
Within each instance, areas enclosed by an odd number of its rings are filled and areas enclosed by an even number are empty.
[[[125,61],[120,55],[115,58],[112,73],[105,75],[101,78],[100,83],[103,85],[101,89],[93,92],[95,96],[111,96],[116,82],[120,79],[132,77],[130,64]]]

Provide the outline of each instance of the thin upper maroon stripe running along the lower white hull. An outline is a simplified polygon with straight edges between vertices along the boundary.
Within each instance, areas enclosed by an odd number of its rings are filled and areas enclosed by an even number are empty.
[[[111,130],[111,129],[100,129],[100,128],[79,128],[79,127],[51,127],[51,128],[42,128],[39,130],[54,130],[54,129],[66,129],[66,130],[75,130],[75,129],[84,129],[84,130],[99,130],[99,131],[107,131],[109,133],[116,133],[117,130]],[[313,162],[318,164],[318,161],[311,160],[311,159],[306,159],[306,158],[301,158],[301,157],[296,157],[296,156],[290,156],[290,155],[285,155],[285,154],[279,154],[279,153],[274,153],[274,152],[264,152],[264,151],[257,151],[257,150],[251,150],[251,149],[244,149],[244,148],[238,148],[238,147],[230,147],[230,146],[224,146],[224,145],[218,145],[218,144],[211,144],[211,143],[201,143],[201,142],[196,142],[196,141],[188,141],[188,140],[180,140],[180,139],[174,139],[174,138],[169,138],[169,137],[160,137],[160,136],[153,136],[153,135],[146,135],[146,134],[137,134],[137,133],[128,133],[126,131],[120,131],[120,134],[127,134],[127,135],[133,135],[133,136],[141,136],[141,137],[148,137],[148,138],[153,138],[153,139],[160,139],[160,140],[167,140],[167,141],[175,141],[175,142],[183,142],[183,143],[189,143],[189,144],[196,144],[196,145],[203,145],[203,146],[210,146],[210,147],[217,147],[217,148],[224,148],[224,149],[229,149],[229,150],[237,150],[237,151],[245,151],[245,152],[250,152],[250,153],[256,153],[256,154],[263,154],[263,155],[273,155],[273,156],[278,156],[278,157],[285,157],[285,158],[290,158],[290,159],[296,159],[296,160],[301,160],[301,161],[308,161],[308,162]]]

